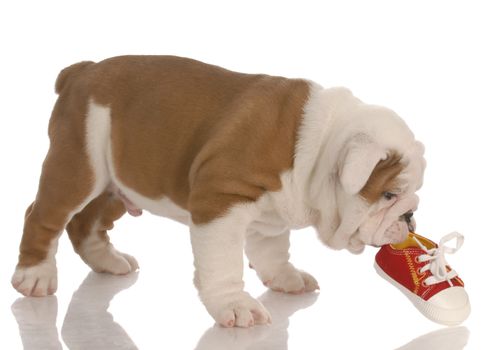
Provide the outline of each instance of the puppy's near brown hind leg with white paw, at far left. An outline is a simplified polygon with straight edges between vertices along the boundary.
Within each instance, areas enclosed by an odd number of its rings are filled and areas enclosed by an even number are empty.
[[[55,110],[49,128],[51,145],[38,193],[26,211],[19,261],[12,276],[13,287],[26,296],[44,296],[56,291],[55,254],[59,236],[96,191],[94,173],[81,146],[83,135],[80,138],[75,130],[78,125],[68,120],[54,124],[57,113]]]

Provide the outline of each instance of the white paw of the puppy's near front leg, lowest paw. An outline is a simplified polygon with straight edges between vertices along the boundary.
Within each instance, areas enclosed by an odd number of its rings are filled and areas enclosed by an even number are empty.
[[[246,292],[238,292],[205,300],[205,306],[222,327],[248,328],[271,323],[266,308]]]

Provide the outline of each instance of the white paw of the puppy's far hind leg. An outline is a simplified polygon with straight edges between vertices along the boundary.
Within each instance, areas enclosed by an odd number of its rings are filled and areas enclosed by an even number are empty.
[[[119,252],[112,245],[105,249],[83,252],[82,258],[95,272],[126,275],[139,268],[133,256]]]

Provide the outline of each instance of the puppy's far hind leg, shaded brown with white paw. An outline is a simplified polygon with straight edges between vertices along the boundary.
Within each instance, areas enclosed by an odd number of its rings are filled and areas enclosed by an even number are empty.
[[[116,250],[107,234],[113,222],[125,212],[119,198],[104,192],[76,214],[66,227],[75,252],[92,270],[123,275],[138,269],[134,257]]]

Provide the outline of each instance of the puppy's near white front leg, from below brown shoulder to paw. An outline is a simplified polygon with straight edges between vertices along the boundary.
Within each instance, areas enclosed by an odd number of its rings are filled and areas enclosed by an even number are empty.
[[[190,225],[195,278],[210,315],[224,327],[270,323],[269,312],[243,291],[243,242],[248,222],[233,212]]]

